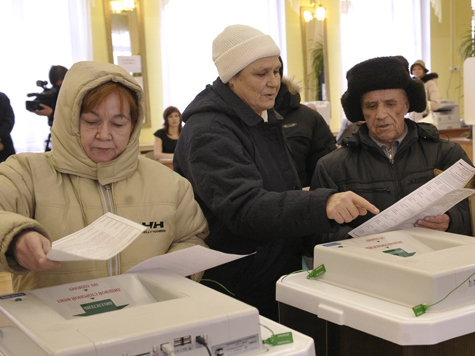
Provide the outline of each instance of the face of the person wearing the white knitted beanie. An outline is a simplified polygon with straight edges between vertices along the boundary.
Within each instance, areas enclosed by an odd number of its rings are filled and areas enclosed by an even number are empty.
[[[278,56],[258,59],[229,80],[229,88],[258,115],[274,107],[280,88]]]

